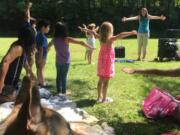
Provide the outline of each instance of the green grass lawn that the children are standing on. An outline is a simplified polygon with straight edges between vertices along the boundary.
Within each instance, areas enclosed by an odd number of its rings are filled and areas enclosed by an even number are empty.
[[[15,39],[0,38],[0,59]],[[137,58],[136,39],[122,40],[116,46],[126,46],[126,58]],[[99,43],[97,43],[99,48]],[[153,87],[166,89],[172,95],[180,94],[180,78],[127,75],[121,72],[122,67],[171,69],[180,67],[179,62],[135,62],[116,63],[116,75],[110,80],[108,96],[114,99],[111,104],[96,104],[96,75],[98,50],[94,54],[95,65],[87,65],[84,60],[85,48],[71,45],[71,67],[68,74],[68,89],[80,108],[96,116],[100,122],[108,122],[115,128],[117,135],[159,135],[167,131],[180,131],[180,124],[173,119],[146,119],[141,111],[141,103]],[[55,91],[55,52],[52,48],[48,54],[46,79]],[[151,39],[148,46],[147,59],[157,56],[157,39]],[[35,68],[34,68],[35,71]],[[23,71],[24,74],[24,71]]]

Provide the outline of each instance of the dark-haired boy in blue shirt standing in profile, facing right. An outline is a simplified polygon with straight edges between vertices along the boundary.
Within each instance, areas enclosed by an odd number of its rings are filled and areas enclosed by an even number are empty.
[[[36,67],[37,67],[37,79],[40,87],[45,87],[44,69],[47,59],[47,37],[45,34],[49,32],[49,22],[41,20],[38,23],[39,32],[36,36]]]

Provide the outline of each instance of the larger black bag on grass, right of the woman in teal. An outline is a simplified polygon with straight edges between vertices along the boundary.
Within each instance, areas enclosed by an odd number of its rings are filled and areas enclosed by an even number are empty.
[[[163,58],[175,58],[177,48],[177,39],[175,38],[161,38],[158,43],[158,57]]]

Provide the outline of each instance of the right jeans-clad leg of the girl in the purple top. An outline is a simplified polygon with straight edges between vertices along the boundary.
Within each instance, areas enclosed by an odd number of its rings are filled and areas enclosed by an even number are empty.
[[[63,64],[62,65],[62,94],[66,94],[68,71],[69,71],[69,64]]]

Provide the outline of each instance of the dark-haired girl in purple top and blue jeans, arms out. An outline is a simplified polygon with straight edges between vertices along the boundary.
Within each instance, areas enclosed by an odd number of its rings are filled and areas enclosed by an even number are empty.
[[[66,25],[58,22],[55,26],[55,33],[52,41],[48,45],[48,50],[54,45],[56,51],[56,87],[60,95],[66,96],[67,87],[67,74],[70,66],[70,50],[69,44],[80,44],[89,49],[93,49],[92,46],[86,44],[83,41],[78,41],[72,37],[68,37]]]

